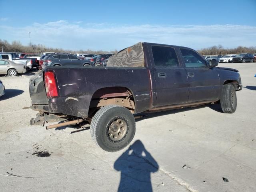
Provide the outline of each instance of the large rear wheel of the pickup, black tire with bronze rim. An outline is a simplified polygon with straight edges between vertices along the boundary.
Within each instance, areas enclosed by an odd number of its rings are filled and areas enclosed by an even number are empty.
[[[125,148],[134,138],[135,119],[122,106],[100,108],[90,126],[92,140],[105,151],[116,152]]]

